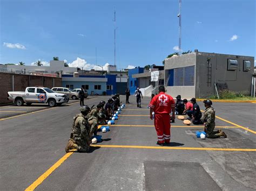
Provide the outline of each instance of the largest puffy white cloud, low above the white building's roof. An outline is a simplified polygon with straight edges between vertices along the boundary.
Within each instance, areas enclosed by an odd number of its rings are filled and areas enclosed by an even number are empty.
[[[91,63],[87,63],[86,60],[84,59],[80,59],[77,57],[76,60],[72,61],[71,63],[68,64],[69,67],[78,67],[80,69],[83,68],[83,70],[91,70],[91,69],[95,69],[95,70],[102,70],[102,67],[93,65]],[[110,65],[109,63],[105,63],[105,65],[103,66],[103,70],[107,69],[107,66]]]

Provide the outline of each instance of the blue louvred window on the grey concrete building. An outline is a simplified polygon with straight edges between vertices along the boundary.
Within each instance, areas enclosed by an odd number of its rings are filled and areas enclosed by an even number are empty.
[[[173,86],[194,86],[194,66],[175,68]]]

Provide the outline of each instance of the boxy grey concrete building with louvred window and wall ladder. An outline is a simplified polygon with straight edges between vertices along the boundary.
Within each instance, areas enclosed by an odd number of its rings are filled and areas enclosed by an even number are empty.
[[[193,52],[165,59],[167,93],[205,98],[216,88],[250,94],[254,57]],[[216,88],[215,88],[216,87]]]

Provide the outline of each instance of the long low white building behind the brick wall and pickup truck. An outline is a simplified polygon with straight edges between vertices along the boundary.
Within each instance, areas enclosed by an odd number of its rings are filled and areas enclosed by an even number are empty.
[[[27,66],[27,65],[7,65],[7,69],[11,70],[20,70],[21,73],[60,73],[62,74],[73,74],[77,72],[75,67],[65,67],[64,61],[61,60],[51,60],[50,66]]]

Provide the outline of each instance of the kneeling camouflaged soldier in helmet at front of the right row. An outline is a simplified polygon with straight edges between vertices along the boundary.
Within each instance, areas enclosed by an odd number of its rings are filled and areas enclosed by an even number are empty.
[[[205,104],[205,112],[203,117],[201,118],[201,121],[205,125],[205,132],[207,138],[220,138],[225,137],[227,138],[225,132],[221,129],[218,131],[214,131],[215,128],[215,110],[212,108],[212,101],[211,100],[204,100]]]

